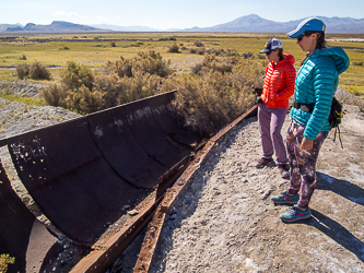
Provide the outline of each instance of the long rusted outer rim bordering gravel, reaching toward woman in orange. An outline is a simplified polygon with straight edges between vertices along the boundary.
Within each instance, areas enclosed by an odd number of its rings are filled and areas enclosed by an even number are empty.
[[[162,202],[160,203],[154,213],[153,219],[149,224],[149,228],[146,230],[138,261],[136,263],[136,266],[133,268],[133,273],[146,273],[149,271],[150,264],[153,259],[154,250],[162,232],[166,212],[168,211],[171,204],[177,198],[179,192],[183,190],[183,188],[187,185],[187,181],[191,178],[193,173],[201,166],[201,163],[209,154],[210,150],[214,146],[215,142],[225,133],[227,133],[232,128],[234,128],[237,123],[239,123],[243,119],[254,116],[256,109],[257,106],[253,106],[233,122],[220,130],[213,138],[211,138],[204,144],[202,150],[197,153],[193,162],[187,167],[187,169],[176,180],[172,188],[166,191]]]

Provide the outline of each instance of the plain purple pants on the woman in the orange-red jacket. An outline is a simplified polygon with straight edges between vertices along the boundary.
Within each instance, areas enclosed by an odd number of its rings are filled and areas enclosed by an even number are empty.
[[[277,164],[286,164],[287,157],[283,143],[281,129],[286,116],[285,108],[270,108],[259,105],[258,120],[261,135],[262,157],[271,158],[275,153]]]

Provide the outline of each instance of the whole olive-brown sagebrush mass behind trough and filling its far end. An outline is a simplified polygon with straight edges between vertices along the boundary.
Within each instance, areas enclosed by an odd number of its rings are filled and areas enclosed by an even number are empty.
[[[58,84],[42,92],[54,106],[87,114],[158,93],[177,90],[174,106],[187,127],[211,136],[246,111],[261,87],[266,61],[206,54],[190,73],[174,74],[154,51],[108,62],[105,69],[69,62]]]

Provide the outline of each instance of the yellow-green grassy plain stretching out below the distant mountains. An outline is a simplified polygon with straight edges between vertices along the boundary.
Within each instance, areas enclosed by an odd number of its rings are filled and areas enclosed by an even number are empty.
[[[72,35],[33,35],[0,36],[0,67],[15,68],[17,64],[31,64],[35,60],[46,66],[64,68],[68,61],[75,61],[92,68],[104,67],[120,56],[128,58],[138,51],[154,50],[177,71],[188,71],[191,66],[202,61],[202,55],[191,54],[197,48],[196,40],[204,48],[231,49],[238,55],[250,51],[256,56],[267,39],[280,38],[285,52],[292,54],[298,68],[305,52],[285,34],[235,34],[235,33],[98,33]],[[341,76],[340,86],[349,92],[364,96],[364,43],[343,39],[363,39],[364,35],[329,34],[329,46],[342,47],[350,57],[351,66]],[[337,40],[334,40],[337,39]],[[339,40],[341,39],[341,40]],[[111,45],[115,43],[115,45]],[[172,45],[179,46],[179,52],[168,52]],[[54,80],[59,78],[60,69],[51,69]],[[0,80],[16,81],[14,69],[0,69]]]

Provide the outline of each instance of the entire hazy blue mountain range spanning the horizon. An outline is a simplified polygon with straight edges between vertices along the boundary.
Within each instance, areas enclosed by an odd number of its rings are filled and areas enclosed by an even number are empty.
[[[326,17],[317,16],[321,19],[327,27],[327,33],[351,33],[363,34],[364,33],[364,19],[352,17]],[[210,26],[210,27],[191,27],[184,29],[155,29],[148,26],[118,26],[118,25],[81,25],[73,24],[64,21],[54,21],[50,25],[36,25],[33,23],[26,24],[24,27],[20,24],[0,24],[0,33],[74,33],[74,32],[232,32],[232,33],[286,33],[294,29],[300,22],[304,19],[289,21],[289,22],[275,22],[266,20],[257,14],[249,14],[237,17],[227,23]]]

